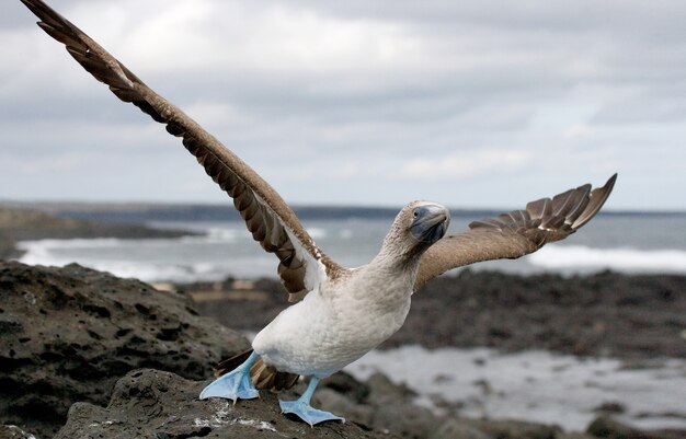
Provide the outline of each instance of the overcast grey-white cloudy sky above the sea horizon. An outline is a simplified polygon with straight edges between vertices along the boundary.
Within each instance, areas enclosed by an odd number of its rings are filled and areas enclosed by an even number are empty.
[[[293,204],[518,208],[619,172],[686,209],[686,3],[53,0]],[[195,160],[0,4],[0,199],[222,203]]]

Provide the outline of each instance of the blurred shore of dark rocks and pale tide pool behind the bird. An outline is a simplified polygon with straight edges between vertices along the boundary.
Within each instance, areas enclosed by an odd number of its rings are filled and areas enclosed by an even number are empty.
[[[190,296],[202,315],[252,334],[289,305],[276,279],[164,287]],[[686,367],[683,291],[679,275],[465,270],[418,291],[400,331],[345,371],[359,381],[381,372],[439,416],[565,431],[611,416],[633,428],[681,430],[686,405],[671,385],[681,389]]]

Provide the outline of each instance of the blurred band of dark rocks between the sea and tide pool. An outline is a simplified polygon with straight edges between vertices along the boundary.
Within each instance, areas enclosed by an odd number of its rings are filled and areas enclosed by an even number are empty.
[[[206,286],[182,288],[193,292]],[[225,288],[230,290],[230,282]],[[255,290],[264,291],[259,300],[236,294],[199,302],[198,309],[231,327],[259,331],[287,303],[276,280],[263,279]],[[684,291],[686,276],[464,270],[434,279],[415,293],[404,325],[381,348],[488,346],[624,359],[685,358]]]

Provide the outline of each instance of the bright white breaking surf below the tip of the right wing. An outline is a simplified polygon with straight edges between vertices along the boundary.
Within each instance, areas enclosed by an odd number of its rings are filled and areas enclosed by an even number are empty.
[[[528,261],[547,269],[609,268],[631,273],[686,273],[686,251],[593,249],[581,245],[546,246]]]

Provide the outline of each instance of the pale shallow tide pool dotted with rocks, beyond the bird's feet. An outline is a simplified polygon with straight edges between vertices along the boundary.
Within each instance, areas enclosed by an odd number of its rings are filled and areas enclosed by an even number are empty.
[[[581,431],[602,415],[634,428],[686,430],[686,361],[640,365],[547,350],[405,345],[373,350],[344,371],[382,373],[437,416],[522,419]],[[637,397],[640,395],[640,397]]]

